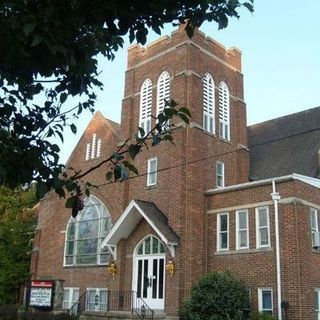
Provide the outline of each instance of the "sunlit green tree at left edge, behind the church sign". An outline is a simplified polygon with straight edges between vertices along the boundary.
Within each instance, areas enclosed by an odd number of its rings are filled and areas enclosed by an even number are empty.
[[[30,276],[35,228],[34,190],[0,187],[0,304],[17,303]]]

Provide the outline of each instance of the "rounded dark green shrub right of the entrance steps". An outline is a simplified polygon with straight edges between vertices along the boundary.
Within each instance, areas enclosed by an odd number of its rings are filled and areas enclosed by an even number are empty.
[[[248,304],[248,291],[240,280],[229,272],[215,272],[192,288],[182,313],[188,320],[241,320]]]

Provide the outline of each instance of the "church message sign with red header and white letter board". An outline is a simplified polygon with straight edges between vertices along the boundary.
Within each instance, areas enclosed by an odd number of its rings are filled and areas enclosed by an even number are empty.
[[[52,308],[53,281],[31,281],[29,306]]]

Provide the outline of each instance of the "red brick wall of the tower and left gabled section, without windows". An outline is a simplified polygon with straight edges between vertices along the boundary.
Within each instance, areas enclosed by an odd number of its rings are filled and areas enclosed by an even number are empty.
[[[167,278],[166,306],[168,314],[176,314],[191,286],[206,271],[206,201],[204,192],[216,184],[216,161],[225,163],[226,185],[248,181],[248,151],[245,150],[246,111],[243,100],[241,55],[238,50],[226,50],[202,33],[190,40],[183,30],[175,32],[151,45],[129,49],[125,94],[120,132],[114,131],[99,114],[92,120],[72,153],[68,164],[76,169],[90,168],[99,159],[84,161],[86,144],[92,134],[103,139],[103,155],[110,155],[118,142],[133,137],[139,125],[140,88],[150,78],[153,83],[152,113],[156,113],[156,84],[162,71],[171,76],[171,98],[192,113],[192,125],[174,130],[175,145],[161,145],[144,150],[135,160],[139,176],[111,185],[105,183],[103,170],[93,172],[88,180],[103,185],[94,194],[109,209],[112,222],[119,218],[131,199],[154,202],[168,217],[169,226],[180,237],[175,264],[177,272]],[[216,133],[218,133],[218,86],[225,81],[230,90],[231,140],[221,140],[202,130],[202,77],[210,72],[215,81]],[[173,123],[177,123],[173,120]],[[242,146],[241,146],[242,145]],[[158,183],[147,187],[147,159],[158,157]],[[106,166],[103,168],[106,169]],[[65,230],[70,212],[63,208],[63,200],[52,196],[43,201],[39,214],[41,240],[39,243],[38,278],[50,276],[64,279],[65,286],[107,287],[131,289],[132,250],[137,242],[153,231],[145,224],[137,227],[130,239],[120,241],[119,275],[112,279],[105,267],[63,268]]]

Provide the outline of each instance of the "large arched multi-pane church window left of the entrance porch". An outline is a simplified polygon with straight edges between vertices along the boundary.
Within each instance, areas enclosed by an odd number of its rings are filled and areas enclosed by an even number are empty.
[[[84,209],[67,225],[65,266],[107,264],[108,249],[100,249],[111,229],[111,217],[103,203],[94,196],[84,202]]]

